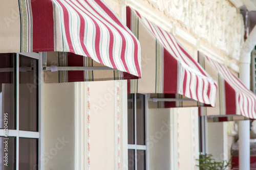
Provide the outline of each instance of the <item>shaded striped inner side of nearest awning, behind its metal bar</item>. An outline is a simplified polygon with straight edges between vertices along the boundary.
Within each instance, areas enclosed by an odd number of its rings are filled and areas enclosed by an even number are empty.
[[[47,65],[58,66],[103,66],[89,57],[83,57],[74,53],[48,52]],[[64,83],[79,81],[105,81],[136,79],[138,77],[119,70],[85,70],[85,71],[45,71],[46,83]]]

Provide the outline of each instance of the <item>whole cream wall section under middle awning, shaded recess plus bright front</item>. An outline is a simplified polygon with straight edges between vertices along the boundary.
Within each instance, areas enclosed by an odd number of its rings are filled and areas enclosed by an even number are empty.
[[[149,167],[199,169],[198,108],[148,109]]]

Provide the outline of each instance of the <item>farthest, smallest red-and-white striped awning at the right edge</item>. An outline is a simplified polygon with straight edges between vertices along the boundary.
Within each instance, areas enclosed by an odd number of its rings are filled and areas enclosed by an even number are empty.
[[[215,108],[202,108],[201,115],[239,116],[240,118],[226,118],[238,120],[256,118],[256,95],[247,89],[243,83],[225,65],[220,64],[199,52],[199,63],[212,78],[218,81],[218,93]],[[219,118],[220,119],[220,118]],[[216,122],[216,121],[215,121]]]

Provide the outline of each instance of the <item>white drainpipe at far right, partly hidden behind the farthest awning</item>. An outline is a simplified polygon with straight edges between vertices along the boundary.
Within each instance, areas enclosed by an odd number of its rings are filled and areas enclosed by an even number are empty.
[[[240,79],[250,88],[250,53],[240,57]],[[239,122],[239,169],[250,170],[250,121]]]

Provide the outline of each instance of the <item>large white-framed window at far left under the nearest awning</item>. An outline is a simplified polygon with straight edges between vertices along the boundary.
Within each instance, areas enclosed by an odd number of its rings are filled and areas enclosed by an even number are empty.
[[[38,169],[39,54],[0,58],[0,169]]]

